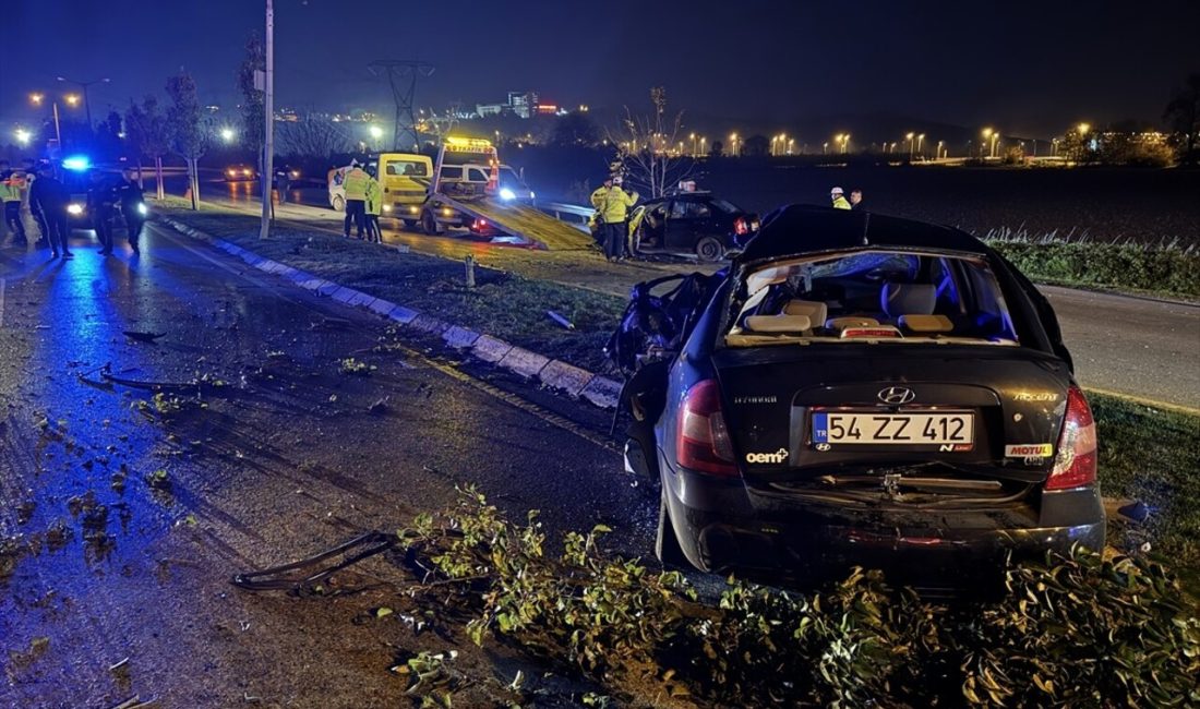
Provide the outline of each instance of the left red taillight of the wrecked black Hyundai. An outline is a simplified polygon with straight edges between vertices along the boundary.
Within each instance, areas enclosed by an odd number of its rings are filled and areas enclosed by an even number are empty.
[[[738,474],[715,379],[704,379],[684,395],[676,432],[676,458],[680,467],[700,473],[720,476]]]

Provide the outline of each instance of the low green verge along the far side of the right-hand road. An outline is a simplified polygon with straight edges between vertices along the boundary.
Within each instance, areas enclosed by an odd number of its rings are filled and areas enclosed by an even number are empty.
[[[1200,250],[1175,241],[1109,244],[994,229],[984,240],[1033,281],[1200,299]]]

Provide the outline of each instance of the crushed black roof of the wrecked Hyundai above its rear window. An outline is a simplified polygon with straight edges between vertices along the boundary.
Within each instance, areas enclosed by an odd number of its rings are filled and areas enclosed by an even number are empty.
[[[954,251],[989,256],[991,250],[960,229],[866,211],[793,204],[763,218],[738,256],[742,263],[857,248]]]

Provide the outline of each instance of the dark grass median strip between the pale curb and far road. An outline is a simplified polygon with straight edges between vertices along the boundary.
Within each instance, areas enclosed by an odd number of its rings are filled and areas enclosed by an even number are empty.
[[[194,229],[322,278],[593,372],[607,368],[601,349],[625,307],[623,299],[482,266],[475,268],[475,287],[467,288],[463,265],[443,258],[283,226],[276,226],[264,241],[258,238],[256,217],[216,206],[198,212],[178,206],[182,203],[168,200],[158,209]],[[557,324],[548,311],[575,329]]]

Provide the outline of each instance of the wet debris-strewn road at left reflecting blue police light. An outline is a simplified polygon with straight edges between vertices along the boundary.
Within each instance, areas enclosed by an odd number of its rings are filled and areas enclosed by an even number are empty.
[[[17,549],[0,576],[0,707],[402,705],[388,667],[422,641],[353,623],[398,607],[377,582],[403,577],[392,560],[334,599],[228,579],[396,529],[456,483],[512,515],[541,509],[552,534],[604,522],[650,553],[655,510],[596,443],[594,411],[552,404],[583,438],[446,375],[454,362],[367,352],[380,320],[152,224],[140,258],[101,257],[84,233],[72,247],[66,263],[0,248],[0,542]],[[348,356],[377,369],[342,374]],[[157,404],[138,384],[194,379],[208,384]],[[367,411],[378,399],[384,415]]]

